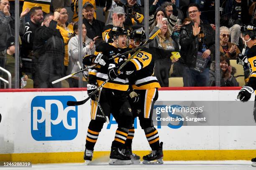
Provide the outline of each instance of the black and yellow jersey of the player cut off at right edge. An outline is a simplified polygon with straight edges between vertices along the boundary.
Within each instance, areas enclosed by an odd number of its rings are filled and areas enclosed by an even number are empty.
[[[256,90],[256,43],[248,50],[247,59],[251,71],[251,77],[247,85]]]

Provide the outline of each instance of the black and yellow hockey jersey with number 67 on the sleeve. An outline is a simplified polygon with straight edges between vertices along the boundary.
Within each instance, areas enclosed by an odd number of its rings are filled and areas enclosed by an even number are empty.
[[[155,60],[152,52],[148,48],[143,48],[121,71],[128,75],[133,89],[146,90],[161,87],[154,76],[154,67]]]

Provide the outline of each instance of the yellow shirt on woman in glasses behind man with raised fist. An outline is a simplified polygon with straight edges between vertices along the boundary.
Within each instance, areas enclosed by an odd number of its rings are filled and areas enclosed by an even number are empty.
[[[63,26],[61,25],[57,25],[56,27],[59,32],[61,33],[62,37],[63,37],[63,40],[64,40],[64,43],[65,43],[65,58],[64,58],[64,65],[65,66],[68,66],[69,64],[69,54],[68,54],[68,43],[69,43],[69,40],[70,38],[72,37],[74,31],[73,31],[73,25],[72,24],[69,24],[67,25],[66,28],[64,28]]]

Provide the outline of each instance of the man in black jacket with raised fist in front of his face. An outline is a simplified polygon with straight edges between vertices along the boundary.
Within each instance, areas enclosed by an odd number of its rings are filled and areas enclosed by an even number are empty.
[[[35,88],[61,87],[51,82],[64,77],[64,40],[57,26],[59,13],[46,14],[44,25],[36,29],[33,41],[33,81]]]

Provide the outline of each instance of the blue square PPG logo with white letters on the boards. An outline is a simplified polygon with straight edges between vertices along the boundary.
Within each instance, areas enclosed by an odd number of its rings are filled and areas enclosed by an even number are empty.
[[[35,140],[72,140],[77,136],[77,106],[73,96],[36,96],[31,102],[31,135]]]

